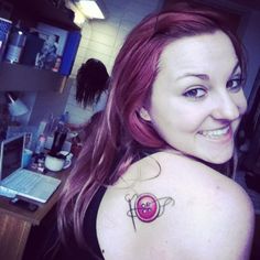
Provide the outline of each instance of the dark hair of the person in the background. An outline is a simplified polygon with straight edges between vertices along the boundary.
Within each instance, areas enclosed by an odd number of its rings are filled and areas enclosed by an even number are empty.
[[[93,106],[108,88],[109,75],[105,64],[97,58],[84,63],[76,76],[76,100],[84,108]]]

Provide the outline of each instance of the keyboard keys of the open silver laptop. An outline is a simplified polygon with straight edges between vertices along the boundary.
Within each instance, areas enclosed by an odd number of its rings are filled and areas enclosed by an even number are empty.
[[[19,176],[19,177],[18,177]],[[9,188],[15,189],[21,193],[29,193],[40,181],[42,176],[39,173],[32,174],[26,170],[21,170],[15,178],[9,178],[6,185]]]

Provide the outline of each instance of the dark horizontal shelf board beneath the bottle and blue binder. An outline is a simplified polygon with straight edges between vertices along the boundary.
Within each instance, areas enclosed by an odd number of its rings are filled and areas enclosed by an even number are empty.
[[[59,91],[65,77],[21,64],[0,63],[0,91]]]

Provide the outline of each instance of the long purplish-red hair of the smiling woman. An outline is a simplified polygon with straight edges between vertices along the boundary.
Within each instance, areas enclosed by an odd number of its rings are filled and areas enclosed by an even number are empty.
[[[63,189],[58,228],[64,241],[73,236],[84,246],[85,213],[100,186],[112,185],[147,150],[162,150],[167,143],[139,110],[150,105],[159,58],[165,46],[184,37],[225,32],[235,47],[242,74],[246,61],[241,43],[216,12],[176,8],[144,18],[126,39],[111,73],[105,111],[95,120],[75,167]],[[224,57],[225,58],[225,57]]]

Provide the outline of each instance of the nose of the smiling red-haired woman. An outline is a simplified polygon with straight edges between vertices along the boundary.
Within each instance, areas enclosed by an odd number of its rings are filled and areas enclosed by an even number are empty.
[[[212,113],[215,119],[232,121],[240,116],[239,105],[236,102],[235,97],[230,95],[226,93],[217,98]]]

